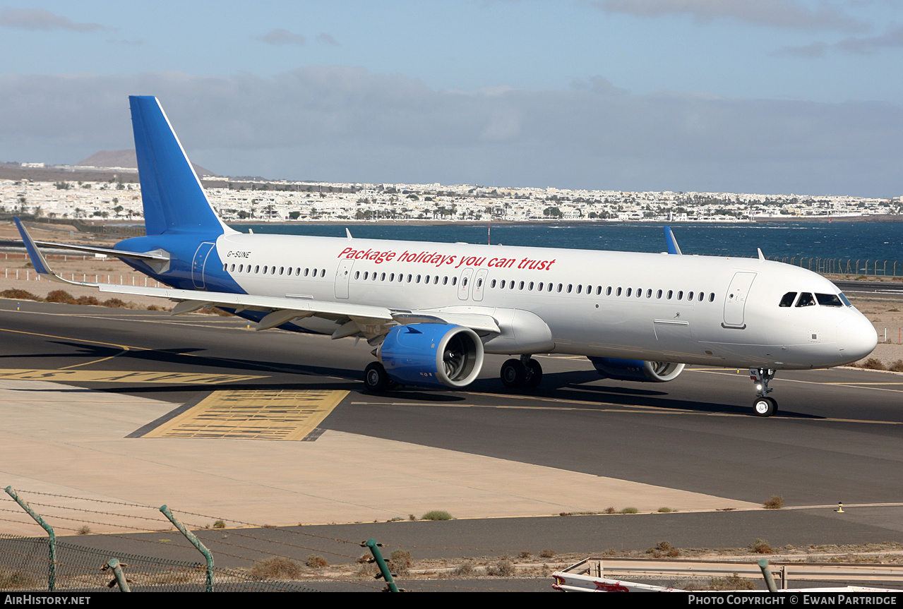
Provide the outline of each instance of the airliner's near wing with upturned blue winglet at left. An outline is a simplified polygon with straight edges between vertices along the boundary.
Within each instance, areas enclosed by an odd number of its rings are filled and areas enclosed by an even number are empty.
[[[149,288],[114,283],[92,283],[89,281],[70,281],[63,279],[50,268],[37,244],[25,230],[19,218],[14,218],[23,245],[32,259],[34,270],[44,279],[58,281],[70,285],[82,285],[97,288],[99,291],[115,294],[134,294],[153,296],[175,300],[172,315],[181,315],[203,309],[204,307],[225,307],[228,309],[256,310],[265,313],[257,324],[257,330],[276,328],[283,324],[303,318],[319,317],[340,323],[340,328],[333,332],[333,338],[362,336],[368,340],[384,335],[396,325],[414,323],[446,323],[470,328],[480,334],[500,334],[496,320],[489,315],[470,313],[442,313],[438,311],[412,311],[373,307],[350,302],[328,302],[325,300],[306,300],[281,298],[277,296],[260,296],[255,294],[237,294],[217,291],[176,290],[175,288]],[[111,250],[118,252],[117,250]],[[120,255],[113,254],[113,255]],[[153,255],[153,254],[150,254]]]

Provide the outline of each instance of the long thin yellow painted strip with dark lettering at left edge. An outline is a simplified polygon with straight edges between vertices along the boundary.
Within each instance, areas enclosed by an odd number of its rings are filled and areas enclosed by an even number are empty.
[[[128,370],[40,370],[35,368],[0,369],[0,379],[49,381],[52,383],[189,383],[219,384],[268,378],[253,374],[206,374],[135,372]]]

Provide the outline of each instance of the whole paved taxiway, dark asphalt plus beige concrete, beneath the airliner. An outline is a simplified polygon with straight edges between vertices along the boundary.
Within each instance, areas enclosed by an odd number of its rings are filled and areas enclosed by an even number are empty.
[[[350,339],[258,333],[213,315],[16,307],[0,300],[3,486],[191,503],[280,525],[429,509],[509,520],[628,505],[713,513],[782,495],[807,513],[880,504],[870,508],[880,518],[823,514],[814,535],[850,537],[856,522],[870,538],[903,540],[892,515],[903,497],[900,374],[778,373],[770,419],[752,416],[742,370],[620,383],[571,357],[541,357],[533,394],[505,390],[504,358],[488,356],[466,391],[375,396],[359,381],[369,348]],[[13,407],[11,395],[23,401]],[[118,402],[79,409],[72,396]],[[28,450],[59,452],[45,468]],[[116,475],[100,453],[116,457]]]

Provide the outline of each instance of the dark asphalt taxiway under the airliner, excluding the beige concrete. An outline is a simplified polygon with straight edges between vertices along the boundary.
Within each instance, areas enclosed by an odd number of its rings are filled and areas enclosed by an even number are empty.
[[[857,369],[779,372],[776,417],[751,416],[746,371],[688,368],[671,383],[599,379],[584,358],[542,357],[538,392],[510,392],[488,356],[466,391],[362,392],[367,346],[235,318],[0,300],[5,368],[178,371],[259,378],[217,389],[349,390],[321,427],[761,503],[888,503],[903,497],[903,377]],[[29,313],[28,311],[34,311]],[[10,332],[9,330],[14,330]],[[127,351],[124,350],[127,347]],[[86,366],[88,362],[103,360]],[[183,403],[196,384],[73,382]]]

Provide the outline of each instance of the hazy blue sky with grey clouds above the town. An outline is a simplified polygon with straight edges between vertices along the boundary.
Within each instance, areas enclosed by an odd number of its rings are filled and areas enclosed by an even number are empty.
[[[903,194],[899,0],[0,0],[0,160],[297,180]]]

